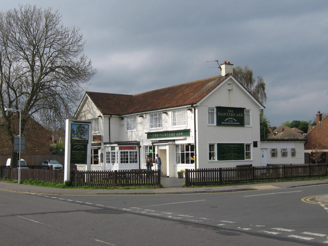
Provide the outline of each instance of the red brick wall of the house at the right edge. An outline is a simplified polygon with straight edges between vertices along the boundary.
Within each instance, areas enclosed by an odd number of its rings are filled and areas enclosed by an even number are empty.
[[[328,149],[328,116],[323,118],[305,138],[308,141],[305,150]]]

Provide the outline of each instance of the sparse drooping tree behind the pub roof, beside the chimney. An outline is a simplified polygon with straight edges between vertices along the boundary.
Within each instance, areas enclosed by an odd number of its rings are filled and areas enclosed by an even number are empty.
[[[233,74],[261,104],[267,101],[267,93],[265,93],[265,83],[262,76],[253,77],[253,71],[248,66],[244,68],[237,66],[233,69]]]

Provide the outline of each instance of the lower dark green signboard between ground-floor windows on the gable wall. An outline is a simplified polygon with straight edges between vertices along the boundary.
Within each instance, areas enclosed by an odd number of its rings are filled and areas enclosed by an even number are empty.
[[[218,160],[244,160],[244,144],[217,144]]]

